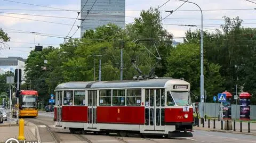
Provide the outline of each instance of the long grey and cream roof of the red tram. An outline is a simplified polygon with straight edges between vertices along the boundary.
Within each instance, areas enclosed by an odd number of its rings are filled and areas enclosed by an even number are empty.
[[[65,89],[98,89],[98,88],[147,88],[147,87],[165,87],[167,81],[173,83],[188,83],[181,79],[158,78],[146,80],[123,80],[123,81],[87,81],[87,82],[66,82],[58,85],[55,90]]]

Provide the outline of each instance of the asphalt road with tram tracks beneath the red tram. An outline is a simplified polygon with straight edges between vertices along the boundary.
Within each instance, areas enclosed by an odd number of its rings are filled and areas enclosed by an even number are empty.
[[[164,139],[164,138],[141,138],[141,137],[118,137],[115,134],[110,134],[106,136],[104,134],[71,134],[67,129],[56,129],[53,128],[53,112],[39,112],[37,119],[29,119],[30,121],[36,122],[37,126],[39,127],[39,133],[41,138],[47,137],[50,138],[49,133],[48,136],[46,130],[45,132],[40,131],[43,127],[43,124],[48,125],[54,137],[59,142],[139,142],[139,143],[151,143],[151,142],[158,142],[158,143],[165,143],[165,142],[255,142],[256,143],[256,136],[250,136],[245,134],[234,134],[234,133],[223,133],[223,132],[209,132],[209,131],[199,131],[195,130],[193,132],[194,137],[190,138],[171,138],[171,139]],[[42,133],[42,134],[41,134]],[[42,139],[43,140],[43,139]],[[52,139],[47,140],[48,142],[53,141]]]

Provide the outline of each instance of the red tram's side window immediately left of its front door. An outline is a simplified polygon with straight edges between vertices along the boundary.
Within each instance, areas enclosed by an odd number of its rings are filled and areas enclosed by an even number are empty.
[[[127,89],[126,105],[127,106],[141,105],[141,89]]]

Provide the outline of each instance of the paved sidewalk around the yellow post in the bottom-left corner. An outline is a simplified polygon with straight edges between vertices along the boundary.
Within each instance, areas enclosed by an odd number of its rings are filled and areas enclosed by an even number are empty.
[[[9,138],[17,139],[19,136],[19,125],[16,124],[16,121],[11,123],[11,127],[9,122],[2,123],[0,124],[0,134],[0,143],[5,142]],[[26,141],[39,140],[37,139],[37,134],[38,129],[36,125],[25,121],[24,136]]]

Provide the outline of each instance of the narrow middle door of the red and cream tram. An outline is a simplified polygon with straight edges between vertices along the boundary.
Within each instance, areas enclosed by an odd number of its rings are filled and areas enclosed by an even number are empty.
[[[96,128],[97,90],[88,91],[88,127]]]

